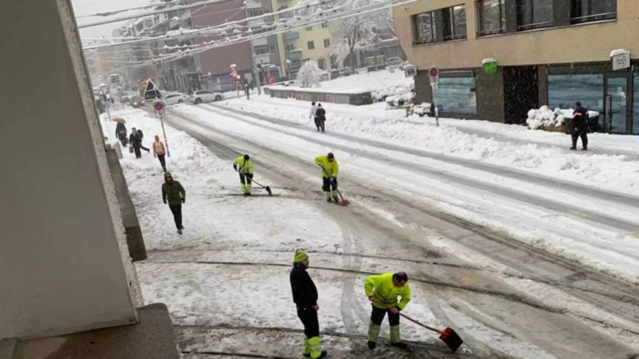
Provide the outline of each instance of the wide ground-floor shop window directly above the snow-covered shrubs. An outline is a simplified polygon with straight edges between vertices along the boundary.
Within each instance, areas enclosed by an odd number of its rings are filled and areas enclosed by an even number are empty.
[[[603,114],[603,74],[548,75],[548,105],[551,109],[572,109],[574,103]]]

